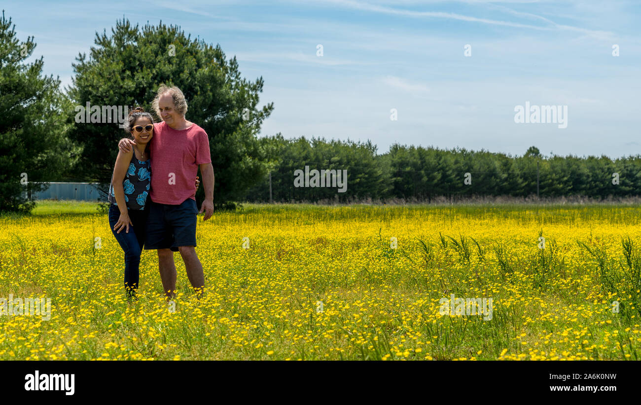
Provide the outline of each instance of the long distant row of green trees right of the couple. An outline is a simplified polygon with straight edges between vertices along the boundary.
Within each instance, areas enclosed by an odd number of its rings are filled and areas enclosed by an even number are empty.
[[[281,134],[261,139],[269,175],[246,194],[252,202],[362,201],[434,197],[511,196],[628,197],[641,190],[641,156],[543,156],[532,146],[522,156],[467,149],[394,144],[377,154],[371,142],[325,140]],[[347,170],[345,192],[337,187],[296,187],[296,170]]]

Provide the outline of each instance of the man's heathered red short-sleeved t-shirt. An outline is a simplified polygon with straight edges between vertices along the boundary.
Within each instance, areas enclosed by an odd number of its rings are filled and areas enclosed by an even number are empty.
[[[164,121],[154,124],[149,142],[151,192],[154,203],[179,205],[188,198],[196,200],[198,165],[212,163],[209,138],[203,128],[193,124],[181,131]]]

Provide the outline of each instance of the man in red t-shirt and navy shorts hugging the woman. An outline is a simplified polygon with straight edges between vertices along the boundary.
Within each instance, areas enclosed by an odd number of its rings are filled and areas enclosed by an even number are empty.
[[[151,192],[145,249],[158,250],[158,269],[167,299],[176,290],[174,252],[180,252],[192,287],[200,297],[204,288],[203,265],[196,254],[197,213],[203,220],[213,214],[213,166],[209,138],[203,128],[185,119],[187,101],[178,87],[160,85],[153,101],[156,114],[163,120],[154,124],[149,144]],[[121,139],[122,151],[135,142]],[[194,178],[201,170],[205,199],[200,211],[196,206]]]

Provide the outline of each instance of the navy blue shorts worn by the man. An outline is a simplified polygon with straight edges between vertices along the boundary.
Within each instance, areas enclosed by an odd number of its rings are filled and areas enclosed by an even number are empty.
[[[145,249],[171,249],[196,246],[196,201],[188,198],[179,205],[154,203],[149,199]]]

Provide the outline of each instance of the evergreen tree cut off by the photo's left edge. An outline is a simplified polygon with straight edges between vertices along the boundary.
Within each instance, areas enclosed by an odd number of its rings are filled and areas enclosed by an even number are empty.
[[[71,104],[60,80],[42,76],[42,57],[26,59],[36,47],[21,42],[11,19],[0,19],[0,210],[30,211],[31,192],[46,188],[72,167],[79,147],[67,138],[65,110]]]

